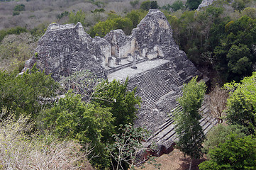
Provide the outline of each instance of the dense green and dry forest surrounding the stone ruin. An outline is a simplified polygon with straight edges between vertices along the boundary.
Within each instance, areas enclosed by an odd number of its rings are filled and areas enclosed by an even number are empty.
[[[165,13],[180,50],[211,78],[206,102],[218,125],[201,132],[206,85],[192,79],[177,99],[183,108],[175,119],[177,148],[191,159],[206,154],[199,169],[256,169],[256,1],[217,0],[196,10],[199,4],[1,0],[0,169],[135,168],[150,133],[133,127],[140,96],[128,91],[128,79],[76,72],[57,82],[36,65],[18,73],[50,23],[81,22],[91,37],[114,29],[129,35],[150,8]]]

